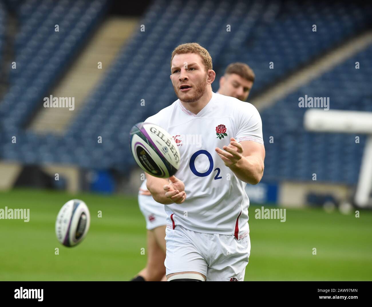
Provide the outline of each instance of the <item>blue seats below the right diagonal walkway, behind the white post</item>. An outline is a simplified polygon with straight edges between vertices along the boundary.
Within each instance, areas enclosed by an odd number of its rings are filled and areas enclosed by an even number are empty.
[[[372,45],[298,91],[261,111],[266,158],[264,180],[311,180],[354,184],[357,182],[365,135],[312,133],[304,129],[307,108],[299,97],[329,97],[330,109],[372,112]],[[362,67],[355,68],[355,63]],[[327,112],[327,111],[324,111]],[[274,142],[269,144],[269,137]]]

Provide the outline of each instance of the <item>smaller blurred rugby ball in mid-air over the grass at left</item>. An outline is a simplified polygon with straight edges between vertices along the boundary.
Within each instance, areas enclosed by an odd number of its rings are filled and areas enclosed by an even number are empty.
[[[90,214],[85,202],[71,199],[57,215],[55,234],[64,246],[75,246],[86,236],[90,226]]]

